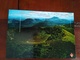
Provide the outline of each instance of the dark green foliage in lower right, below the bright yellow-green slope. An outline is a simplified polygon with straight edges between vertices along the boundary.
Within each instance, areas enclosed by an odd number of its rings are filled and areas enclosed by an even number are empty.
[[[41,48],[41,58],[70,58],[70,53],[75,55],[75,46],[71,42],[54,41],[50,46]],[[74,56],[75,57],[75,56]]]

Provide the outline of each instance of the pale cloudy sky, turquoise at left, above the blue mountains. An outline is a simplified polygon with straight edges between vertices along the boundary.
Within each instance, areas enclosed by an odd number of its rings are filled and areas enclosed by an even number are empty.
[[[27,18],[52,18],[74,20],[74,13],[71,12],[49,12],[32,10],[9,10],[9,19],[27,19]]]

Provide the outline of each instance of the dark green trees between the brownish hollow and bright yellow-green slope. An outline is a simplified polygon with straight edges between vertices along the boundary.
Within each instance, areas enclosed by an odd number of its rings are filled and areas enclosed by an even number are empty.
[[[60,26],[47,27],[45,31],[47,34],[51,35],[48,40],[61,40],[64,36],[64,32]]]

